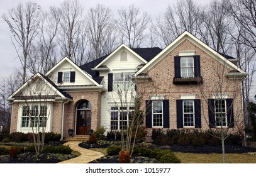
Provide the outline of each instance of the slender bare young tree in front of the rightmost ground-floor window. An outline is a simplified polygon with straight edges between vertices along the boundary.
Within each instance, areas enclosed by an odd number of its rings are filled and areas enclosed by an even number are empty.
[[[221,62],[221,60],[218,60]],[[208,107],[208,114],[202,111],[203,118],[209,124],[210,135],[221,140],[223,163],[225,157],[225,140],[236,128],[243,134],[243,116],[241,109],[233,109],[233,104],[242,100],[240,94],[241,78],[237,72],[230,72],[226,63],[213,60],[211,63],[211,81],[199,83],[202,107]],[[236,105],[237,106],[237,105]],[[239,106],[238,106],[239,107]],[[234,118],[235,117],[235,118]]]

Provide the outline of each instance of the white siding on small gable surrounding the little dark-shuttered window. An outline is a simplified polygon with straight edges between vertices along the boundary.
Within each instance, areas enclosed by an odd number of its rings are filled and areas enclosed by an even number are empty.
[[[62,85],[94,85],[80,70],[75,69],[75,67],[67,61],[58,65],[58,67],[48,75],[56,85],[58,85],[58,72],[75,72],[75,82],[62,82]]]

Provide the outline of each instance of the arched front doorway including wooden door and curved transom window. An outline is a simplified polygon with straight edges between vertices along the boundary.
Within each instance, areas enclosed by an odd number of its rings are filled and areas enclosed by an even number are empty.
[[[91,129],[91,103],[87,100],[77,105],[76,129],[76,135],[88,135],[88,130]]]

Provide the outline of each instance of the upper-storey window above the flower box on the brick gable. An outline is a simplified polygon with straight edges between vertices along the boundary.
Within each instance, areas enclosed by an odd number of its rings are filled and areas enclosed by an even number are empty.
[[[181,57],[181,77],[194,77],[193,57]]]

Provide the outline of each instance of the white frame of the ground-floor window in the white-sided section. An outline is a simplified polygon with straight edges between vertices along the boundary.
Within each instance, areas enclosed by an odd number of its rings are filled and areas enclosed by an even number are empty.
[[[124,108],[124,109],[122,109]],[[121,130],[121,123],[126,123],[127,126],[129,125],[128,121],[130,119],[130,113],[132,113],[134,111],[134,106],[110,106],[110,112],[114,112],[114,113],[118,113],[118,119],[116,120],[111,120],[111,113],[110,113],[110,129],[111,130]],[[125,113],[127,112],[126,114],[126,119],[121,119],[121,113]],[[117,122],[117,129],[112,129],[112,126],[111,126],[111,122]]]

